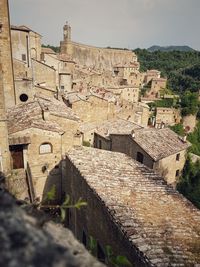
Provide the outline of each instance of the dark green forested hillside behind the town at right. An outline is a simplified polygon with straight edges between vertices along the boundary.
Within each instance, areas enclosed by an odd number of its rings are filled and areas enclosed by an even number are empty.
[[[168,79],[168,87],[181,94],[186,90],[200,89],[200,52],[198,51],[155,51],[135,49],[140,70],[157,69]]]

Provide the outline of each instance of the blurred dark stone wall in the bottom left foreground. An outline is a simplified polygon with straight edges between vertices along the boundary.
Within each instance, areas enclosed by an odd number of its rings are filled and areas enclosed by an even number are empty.
[[[103,267],[68,230],[43,214],[27,215],[0,190],[0,266]],[[26,208],[29,213],[31,209]]]

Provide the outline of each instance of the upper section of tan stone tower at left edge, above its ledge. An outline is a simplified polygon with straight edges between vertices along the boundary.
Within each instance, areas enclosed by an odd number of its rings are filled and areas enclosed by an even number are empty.
[[[0,57],[3,72],[4,104],[7,109],[16,103],[8,0],[0,0]]]

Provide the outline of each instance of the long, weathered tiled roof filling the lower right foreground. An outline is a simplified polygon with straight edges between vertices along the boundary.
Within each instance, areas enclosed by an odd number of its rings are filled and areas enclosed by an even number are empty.
[[[67,156],[145,266],[199,266],[200,211],[161,177],[121,153],[77,148]]]

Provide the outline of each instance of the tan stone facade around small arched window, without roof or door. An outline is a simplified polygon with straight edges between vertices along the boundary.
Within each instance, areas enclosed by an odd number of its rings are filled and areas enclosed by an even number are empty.
[[[57,188],[57,198],[60,197],[61,173],[61,136],[56,132],[49,132],[37,128],[30,128],[10,135],[10,137],[29,136],[31,143],[23,150],[24,166],[29,163],[36,197],[40,200],[50,191],[53,185]],[[40,145],[50,143],[52,153],[40,154]]]

